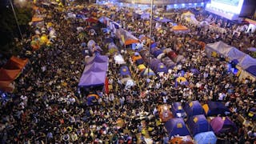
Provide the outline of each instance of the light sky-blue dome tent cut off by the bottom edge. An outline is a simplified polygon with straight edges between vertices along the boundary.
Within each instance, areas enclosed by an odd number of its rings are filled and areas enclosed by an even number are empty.
[[[207,131],[204,133],[196,134],[194,136],[194,141],[198,144],[215,144],[217,142],[217,138],[213,131]]]

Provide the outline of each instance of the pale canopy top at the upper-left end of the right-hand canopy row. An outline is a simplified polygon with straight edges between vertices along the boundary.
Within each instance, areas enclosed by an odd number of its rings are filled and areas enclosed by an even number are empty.
[[[235,49],[233,46],[229,46],[225,42],[219,41],[214,43],[208,43],[206,45],[206,54],[208,56],[216,57],[217,54],[226,56],[231,49]]]

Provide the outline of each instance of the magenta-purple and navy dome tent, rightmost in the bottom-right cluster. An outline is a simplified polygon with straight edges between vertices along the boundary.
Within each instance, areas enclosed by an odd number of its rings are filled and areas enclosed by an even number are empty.
[[[234,122],[228,117],[216,117],[210,121],[210,126],[212,126],[214,133],[229,133],[237,130]]]

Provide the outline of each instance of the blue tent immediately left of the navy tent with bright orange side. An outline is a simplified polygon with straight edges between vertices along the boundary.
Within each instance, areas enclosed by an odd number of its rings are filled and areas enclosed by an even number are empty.
[[[187,102],[184,106],[184,110],[189,118],[194,115],[205,114],[205,111],[198,101]]]

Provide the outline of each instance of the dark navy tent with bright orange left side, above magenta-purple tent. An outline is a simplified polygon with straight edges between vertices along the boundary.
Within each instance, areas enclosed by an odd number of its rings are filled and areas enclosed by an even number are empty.
[[[206,116],[230,114],[230,110],[224,106],[222,102],[208,101],[207,104],[202,106],[202,108],[204,109]]]

